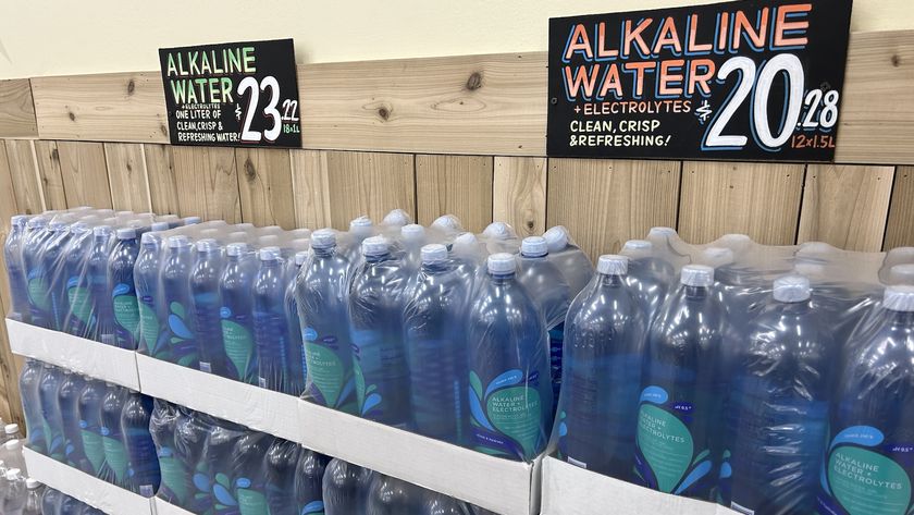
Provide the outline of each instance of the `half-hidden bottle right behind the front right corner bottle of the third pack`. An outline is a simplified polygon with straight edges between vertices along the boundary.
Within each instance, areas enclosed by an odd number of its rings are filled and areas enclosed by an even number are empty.
[[[553,385],[553,406],[558,403],[561,388],[561,348],[565,341],[565,316],[571,304],[571,292],[561,271],[547,259],[548,245],[544,237],[530,236],[520,244],[517,281],[527,289],[543,310],[549,335],[549,377]]]

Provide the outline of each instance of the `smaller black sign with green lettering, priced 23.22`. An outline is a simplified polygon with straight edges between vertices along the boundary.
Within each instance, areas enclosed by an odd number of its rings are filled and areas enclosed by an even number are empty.
[[[300,147],[292,39],[159,49],[173,145]]]

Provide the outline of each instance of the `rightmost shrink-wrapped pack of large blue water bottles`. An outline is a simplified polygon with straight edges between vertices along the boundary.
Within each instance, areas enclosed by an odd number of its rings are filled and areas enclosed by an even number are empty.
[[[740,513],[912,508],[914,253],[657,228],[621,254],[565,320],[559,458]]]

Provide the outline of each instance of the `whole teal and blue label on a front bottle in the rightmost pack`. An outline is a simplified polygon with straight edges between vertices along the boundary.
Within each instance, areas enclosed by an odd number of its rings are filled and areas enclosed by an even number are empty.
[[[650,488],[680,494],[712,471],[711,451],[696,444],[683,419],[702,416],[688,402],[668,403],[660,387],[641,392],[635,430],[635,474]]]

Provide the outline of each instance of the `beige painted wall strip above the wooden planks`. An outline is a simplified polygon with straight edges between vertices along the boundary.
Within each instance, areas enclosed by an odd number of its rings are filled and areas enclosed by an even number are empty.
[[[293,37],[299,62],[545,50],[548,17],[699,0],[0,0],[0,78],[159,68],[159,47]],[[914,28],[856,0],[853,30]]]

